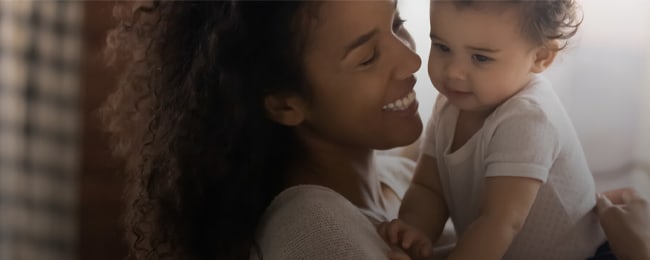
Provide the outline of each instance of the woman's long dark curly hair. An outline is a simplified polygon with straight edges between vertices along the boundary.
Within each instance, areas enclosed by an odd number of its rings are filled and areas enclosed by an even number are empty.
[[[102,108],[126,162],[129,258],[243,259],[296,142],[264,97],[306,95],[302,1],[118,3]]]

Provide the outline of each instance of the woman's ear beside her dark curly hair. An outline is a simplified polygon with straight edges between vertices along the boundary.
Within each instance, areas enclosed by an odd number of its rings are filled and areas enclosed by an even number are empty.
[[[268,95],[264,107],[269,118],[278,124],[296,126],[305,120],[305,103],[296,95]]]

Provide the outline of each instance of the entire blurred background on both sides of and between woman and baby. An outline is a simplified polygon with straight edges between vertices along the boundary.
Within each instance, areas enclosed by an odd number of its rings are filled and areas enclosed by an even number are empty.
[[[545,73],[599,190],[650,195],[650,1],[580,0],[584,24]],[[429,3],[401,0],[426,61]],[[115,84],[101,57],[112,2],[0,0],[0,260],[121,259],[122,165],[97,108]],[[437,93],[426,62],[426,121]]]

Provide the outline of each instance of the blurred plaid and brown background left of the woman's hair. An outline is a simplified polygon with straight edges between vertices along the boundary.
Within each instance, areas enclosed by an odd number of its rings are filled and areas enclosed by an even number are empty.
[[[123,259],[109,1],[0,0],[0,260]]]

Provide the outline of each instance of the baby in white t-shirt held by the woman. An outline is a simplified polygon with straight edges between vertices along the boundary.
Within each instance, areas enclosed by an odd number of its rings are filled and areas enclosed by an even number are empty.
[[[451,217],[449,259],[587,259],[605,236],[594,180],[540,75],[581,20],[574,0],[431,1],[429,76],[440,95],[399,219],[379,226],[431,255]]]

